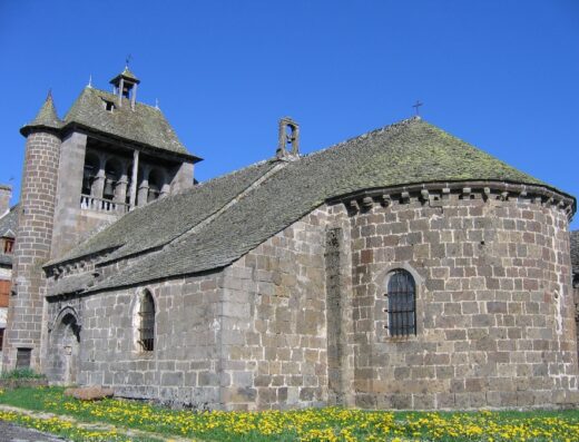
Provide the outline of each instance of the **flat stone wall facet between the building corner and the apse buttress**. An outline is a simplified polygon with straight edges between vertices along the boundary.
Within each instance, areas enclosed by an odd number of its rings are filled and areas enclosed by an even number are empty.
[[[314,210],[225,269],[226,409],[327,402],[325,218]]]

